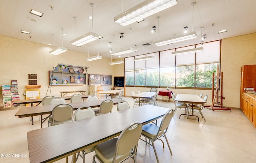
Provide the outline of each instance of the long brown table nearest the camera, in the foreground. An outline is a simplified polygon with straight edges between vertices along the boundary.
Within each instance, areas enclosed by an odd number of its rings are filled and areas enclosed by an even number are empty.
[[[144,105],[33,130],[27,133],[30,163],[54,162],[120,135],[132,122],[143,125],[164,116],[169,108]],[[75,163],[74,157],[74,163]]]

